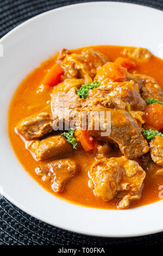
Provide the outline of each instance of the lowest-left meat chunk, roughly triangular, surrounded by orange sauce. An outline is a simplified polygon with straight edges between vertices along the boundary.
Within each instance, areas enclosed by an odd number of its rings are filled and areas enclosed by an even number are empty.
[[[43,181],[49,180],[54,192],[61,192],[67,180],[77,172],[77,164],[73,160],[61,159],[40,163],[35,168],[35,173],[41,176]]]

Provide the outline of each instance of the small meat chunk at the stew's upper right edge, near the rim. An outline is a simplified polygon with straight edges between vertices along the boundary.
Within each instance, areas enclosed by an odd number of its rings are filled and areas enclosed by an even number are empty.
[[[126,47],[124,48],[123,54],[131,59],[136,60],[137,62],[147,62],[149,59],[151,59],[152,56],[148,49],[141,47]]]

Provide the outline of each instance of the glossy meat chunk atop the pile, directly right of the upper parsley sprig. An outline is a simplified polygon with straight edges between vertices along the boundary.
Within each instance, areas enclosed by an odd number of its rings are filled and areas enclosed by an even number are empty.
[[[93,90],[89,90],[87,96],[90,101],[93,99],[101,98],[102,101],[114,102],[118,108],[126,107],[127,103],[130,104],[133,110],[143,110],[146,107],[145,101],[142,99],[139,87],[134,81],[127,82],[104,82]]]

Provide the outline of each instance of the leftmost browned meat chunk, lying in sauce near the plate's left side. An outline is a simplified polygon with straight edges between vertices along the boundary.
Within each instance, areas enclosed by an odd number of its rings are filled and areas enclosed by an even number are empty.
[[[52,114],[40,113],[23,118],[16,126],[17,132],[27,141],[39,138],[53,130]]]

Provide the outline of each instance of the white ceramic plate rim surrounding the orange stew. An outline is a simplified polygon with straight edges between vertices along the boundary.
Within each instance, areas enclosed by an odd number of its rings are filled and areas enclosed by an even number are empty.
[[[62,47],[107,44],[147,47],[159,56],[162,14],[126,3],[76,4],[36,16],[1,39],[0,185],[3,195],[18,208],[49,224],[87,235],[122,237],[163,230],[163,201],[131,210],[101,210],[67,203],[43,190],[16,159],[7,131],[12,94],[43,60]]]

